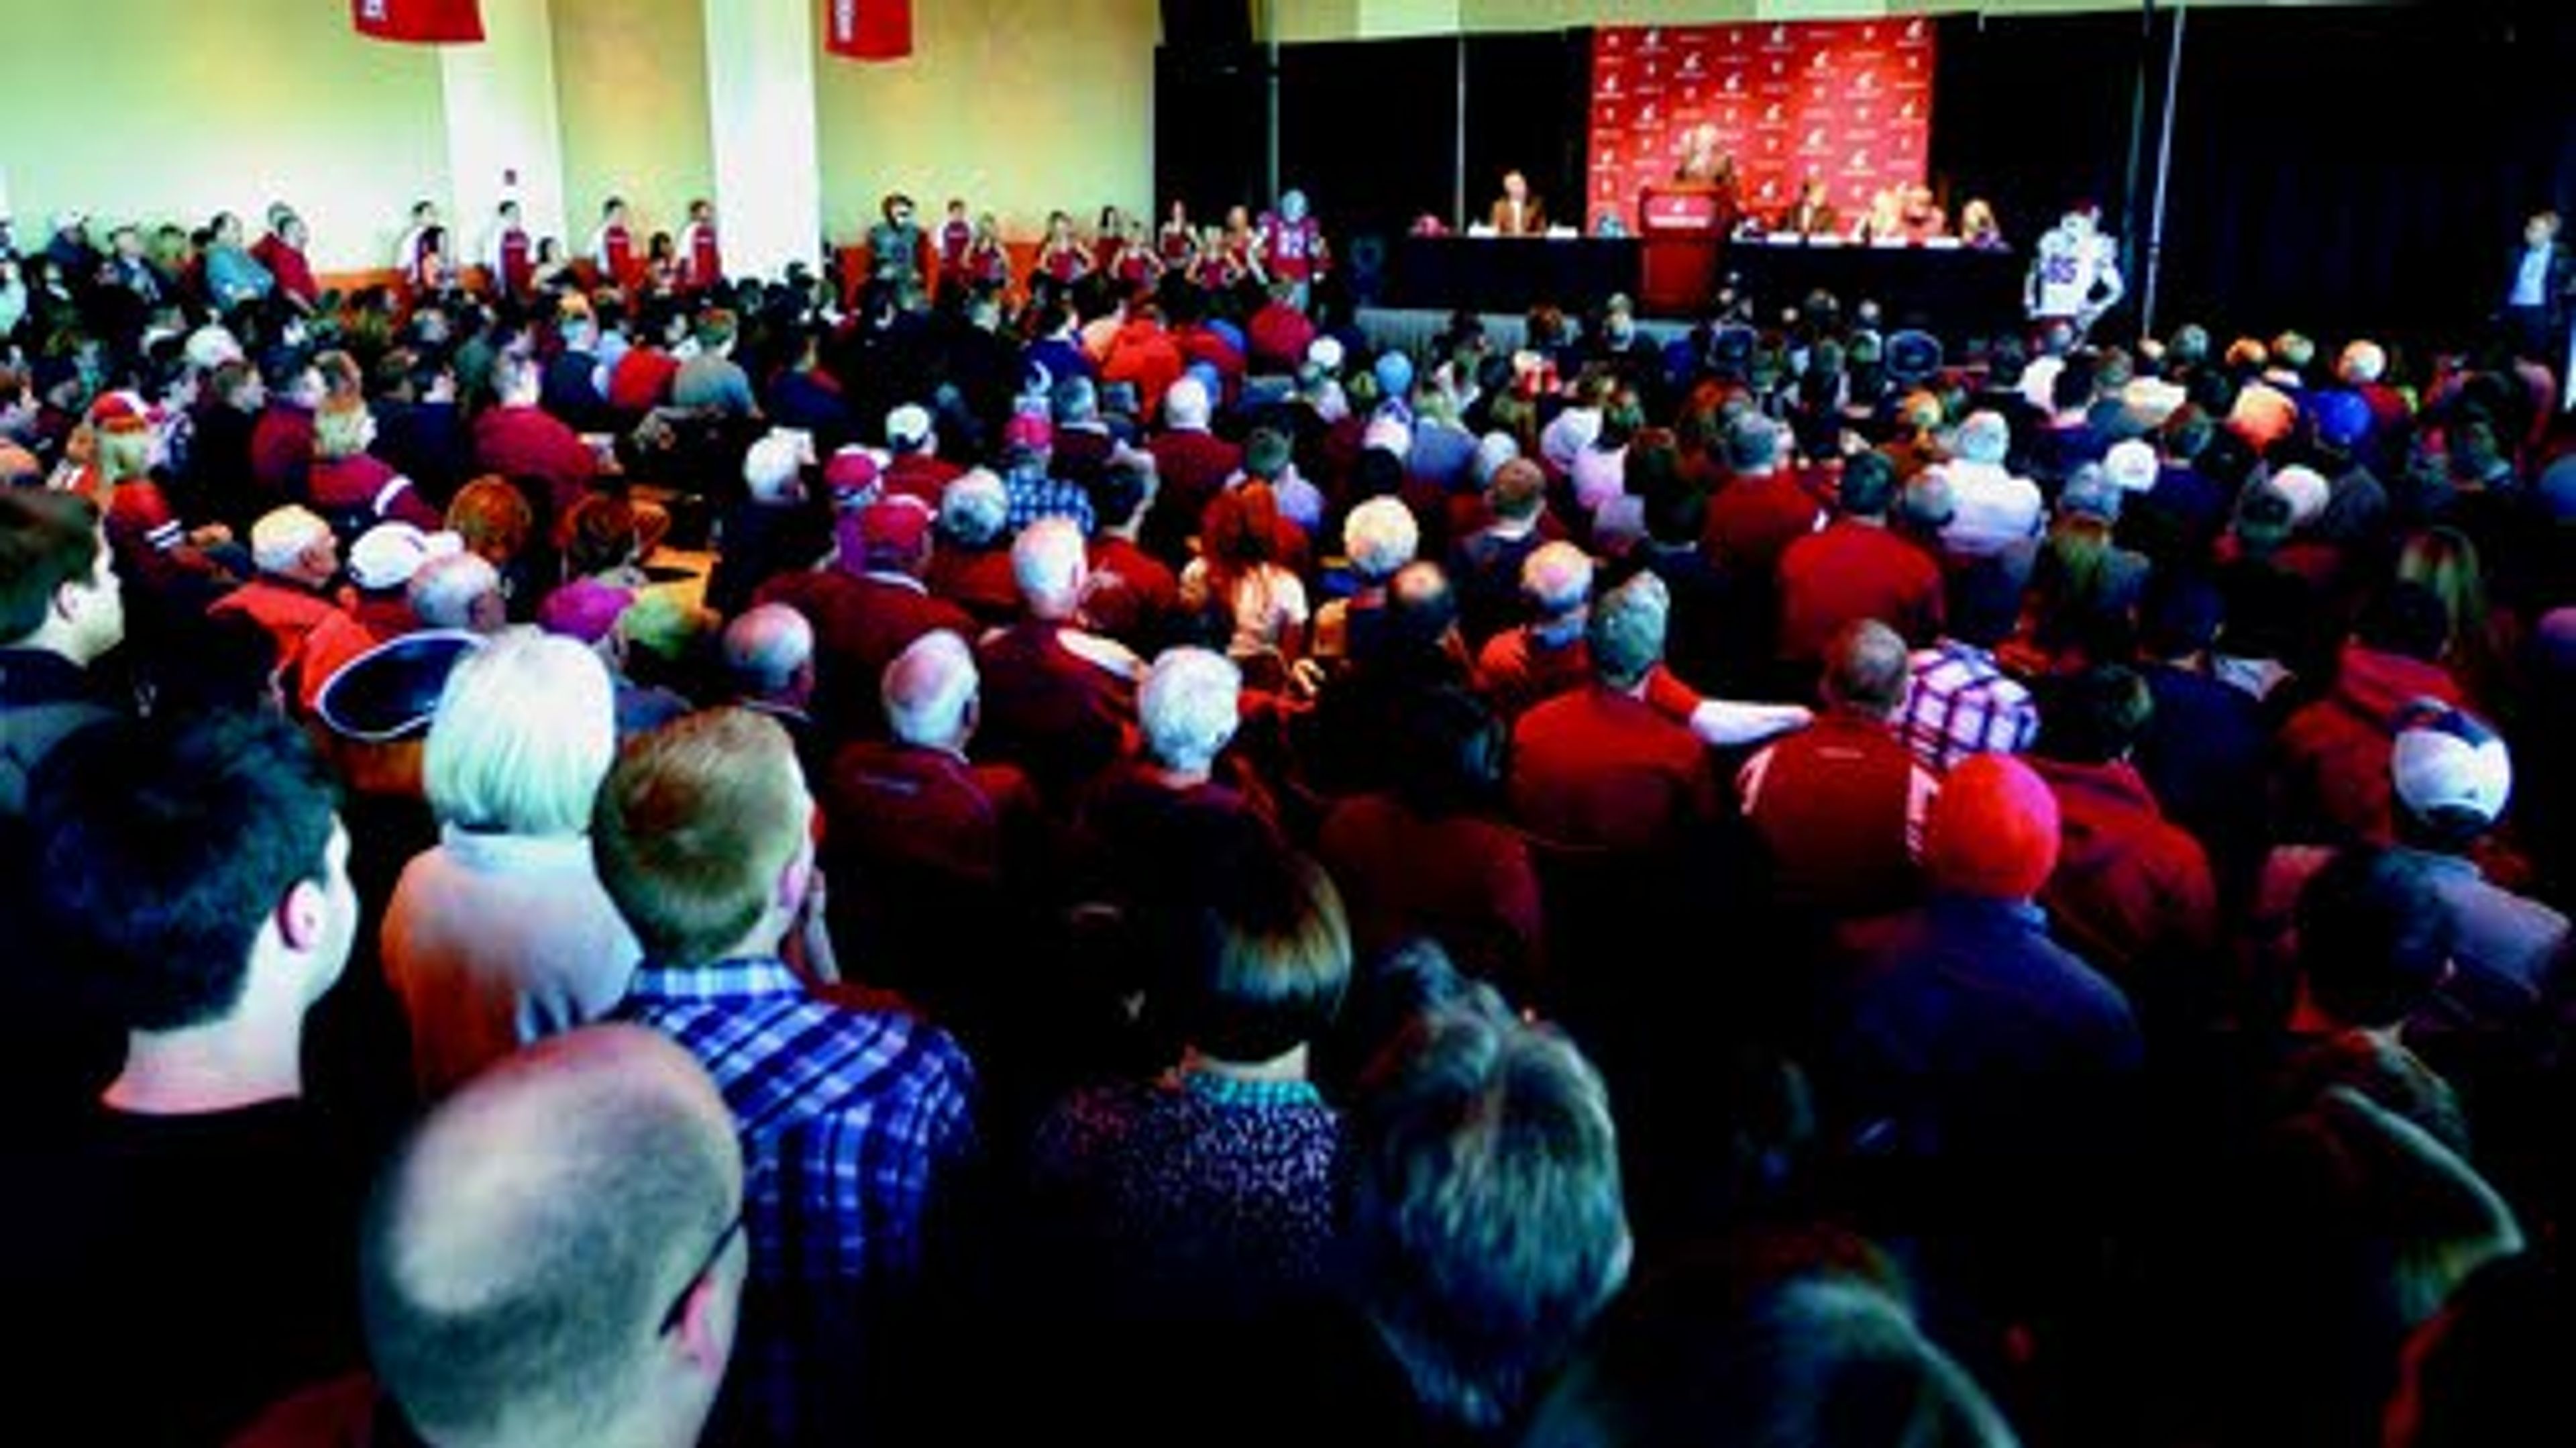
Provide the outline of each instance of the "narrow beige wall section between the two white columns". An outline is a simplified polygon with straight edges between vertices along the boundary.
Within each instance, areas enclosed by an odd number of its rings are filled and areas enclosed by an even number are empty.
[[[677,234],[688,201],[714,196],[701,0],[554,0],[554,85],[567,247],[590,242],[608,196],[647,234]]]

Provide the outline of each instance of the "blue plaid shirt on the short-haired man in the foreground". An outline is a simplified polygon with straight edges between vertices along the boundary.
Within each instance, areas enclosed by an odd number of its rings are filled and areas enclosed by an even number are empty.
[[[742,1345],[781,1440],[837,1433],[858,1283],[920,1278],[922,1221],[974,1149],[974,1067],[935,1025],[829,1005],[775,958],[644,966],[618,1018],[662,1031],[716,1077],[742,1136],[752,1242]]]

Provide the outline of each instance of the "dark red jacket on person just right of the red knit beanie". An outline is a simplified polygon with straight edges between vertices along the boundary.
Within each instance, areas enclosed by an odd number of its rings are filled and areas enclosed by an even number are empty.
[[[2040,889],[2050,935],[2112,984],[2138,992],[2154,966],[2195,966],[2218,943],[2210,858],[2166,824],[2128,763],[2071,765],[2032,755],[2058,796],[2058,868]]]

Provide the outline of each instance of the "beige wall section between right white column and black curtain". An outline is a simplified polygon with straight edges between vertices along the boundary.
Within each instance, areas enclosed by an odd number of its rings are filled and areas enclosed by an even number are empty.
[[[1010,237],[1151,206],[1159,41],[1159,0],[940,0],[912,8],[907,62],[817,46],[824,234],[853,245],[889,191],[933,224],[963,196]]]

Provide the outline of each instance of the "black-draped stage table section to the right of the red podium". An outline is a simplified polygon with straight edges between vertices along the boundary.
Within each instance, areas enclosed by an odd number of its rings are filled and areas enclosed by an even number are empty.
[[[1752,296],[1767,325],[1783,307],[1811,291],[1832,291],[1844,317],[1875,299],[1886,327],[1927,327],[1942,338],[1991,335],[2022,322],[2022,265],[2017,252],[1971,247],[1814,245],[1801,240],[1736,237],[1726,242],[1721,276],[1739,296]]]

